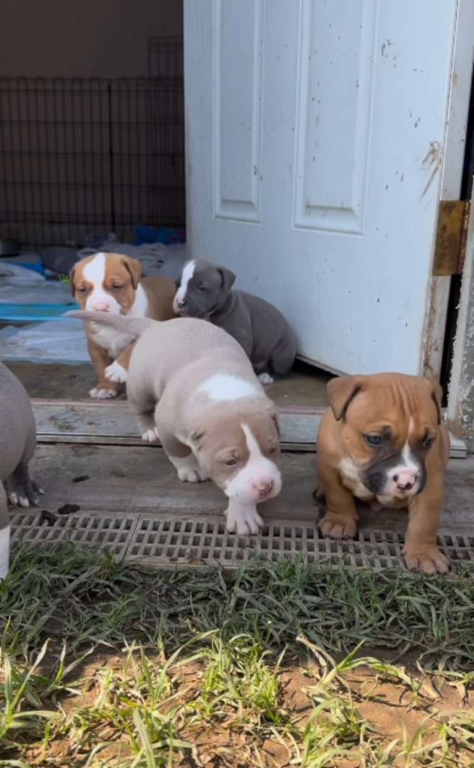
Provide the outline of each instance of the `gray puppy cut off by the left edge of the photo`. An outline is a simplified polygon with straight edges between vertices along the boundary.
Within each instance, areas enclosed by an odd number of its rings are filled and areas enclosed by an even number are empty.
[[[28,462],[36,448],[36,425],[25,387],[0,362],[0,578],[8,574],[12,505],[38,504],[41,488],[31,477]]]

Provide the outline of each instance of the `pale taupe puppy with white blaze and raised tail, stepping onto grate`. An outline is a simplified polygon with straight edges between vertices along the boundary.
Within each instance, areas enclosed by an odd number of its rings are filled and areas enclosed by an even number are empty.
[[[281,490],[278,416],[239,342],[205,320],[68,312],[134,343],[127,399],[143,440],[160,442],[183,482],[210,478],[229,498],[228,531],[256,534],[256,505]]]

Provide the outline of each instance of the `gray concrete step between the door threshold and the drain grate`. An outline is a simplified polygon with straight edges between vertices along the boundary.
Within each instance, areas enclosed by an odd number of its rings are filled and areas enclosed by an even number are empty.
[[[61,472],[58,467],[61,466]],[[316,453],[283,452],[283,489],[278,498],[260,505],[265,521],[314,522],[318,504],[312,491],[316,483]],[[75,504],[84,512],[122,514],[220,515],[225,496],[212,482],[179,482],[176,470],[156,445],[40,444],[32,463],[35,477],[45,490],[40,504],[50,511]],[[77,478],[84,478],[77,482]],[[474,533],[474,458],[452,459],[446,471],[443,531]],[[367,525],[403,531],[407,513],[371,511],[360,505]]]

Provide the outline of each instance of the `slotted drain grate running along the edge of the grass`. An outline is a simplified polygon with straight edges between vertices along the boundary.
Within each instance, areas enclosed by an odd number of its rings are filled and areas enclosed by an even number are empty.
[[[351,568],[393,568],[402,564],[403,534],[358,531],[356,538],[319,538],[311,525],[272,523],[262,533],[243,538],[225,531],[223,521],[112,515],[44,517],[40,511],[12,516],[12,549],[19,541],[51,546],[60,541],[113,552],[118,558],[149,565],[235,565],[259,558],[278,561],[302,554],[305,562],[340,561]],[[474,571],[474,535],[445,534],[439,546],[453,564]]]

